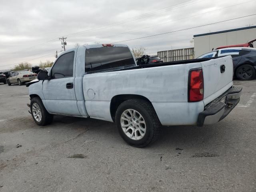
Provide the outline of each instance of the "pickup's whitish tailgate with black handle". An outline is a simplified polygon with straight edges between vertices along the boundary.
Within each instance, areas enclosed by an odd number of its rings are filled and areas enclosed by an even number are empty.
[[[203,101],[206,105],[233,85],[233,62],[231,56],[226,56],[204,61],[201,64],[204,74]]]

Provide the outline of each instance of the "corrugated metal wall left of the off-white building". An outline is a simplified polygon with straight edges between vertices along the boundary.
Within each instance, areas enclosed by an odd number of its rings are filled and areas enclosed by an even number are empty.
[[[157,55],[164,62],[194,59],[194,48],[158,51]]]

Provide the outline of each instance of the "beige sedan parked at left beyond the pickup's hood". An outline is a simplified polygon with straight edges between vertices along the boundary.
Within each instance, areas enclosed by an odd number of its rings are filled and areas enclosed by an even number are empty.
[[[8,85],[19,84],[22,85],[25,82],[30,82],[37,78],[37,74],[32,73],[31,71],[16,71],[10,74],[10,77],[7,79]]]

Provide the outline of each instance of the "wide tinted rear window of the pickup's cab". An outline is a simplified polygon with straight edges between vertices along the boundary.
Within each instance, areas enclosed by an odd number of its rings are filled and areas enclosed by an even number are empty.
[[[128,47],[101,47],[86,49],[85,72],[107,71],[135,66]]]

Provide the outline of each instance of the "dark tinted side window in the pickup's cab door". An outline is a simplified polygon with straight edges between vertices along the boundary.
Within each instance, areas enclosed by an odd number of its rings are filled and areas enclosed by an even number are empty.
[[[72,77],[75,52],[66,53],[58,58],[52,67],[52,78]]]

